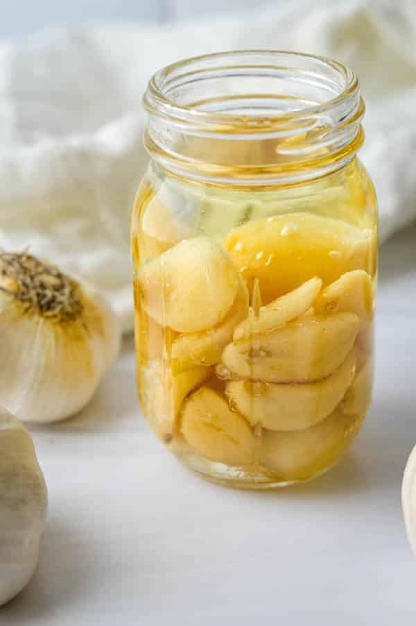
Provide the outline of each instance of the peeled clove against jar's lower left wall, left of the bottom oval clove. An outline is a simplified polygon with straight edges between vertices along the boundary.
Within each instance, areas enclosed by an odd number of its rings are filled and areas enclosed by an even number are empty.
[[[153,362],[143,369],[141,405],[144,415],[164,443],[175,437],[176,420],[184,398],[212,373],[209,367],[193,367],[173,375],[163,362]]]

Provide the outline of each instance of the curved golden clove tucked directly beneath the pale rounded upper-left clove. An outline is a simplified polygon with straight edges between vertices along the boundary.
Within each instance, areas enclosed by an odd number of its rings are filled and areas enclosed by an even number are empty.
[[[239,280],[239,292],[223,321],[202,332],[184,333],[173,341],[171,357],[175,373],[220,361],[223,349],[232,340],[234,328],[248,314],[247,287],[242,278]]]

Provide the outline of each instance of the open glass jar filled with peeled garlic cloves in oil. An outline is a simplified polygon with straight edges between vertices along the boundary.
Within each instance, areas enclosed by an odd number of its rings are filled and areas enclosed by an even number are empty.
[[[370,405],[376,196],[338,62],[220,53],[157,72],[132,212],[141,409],[234,487],[327,471]]]

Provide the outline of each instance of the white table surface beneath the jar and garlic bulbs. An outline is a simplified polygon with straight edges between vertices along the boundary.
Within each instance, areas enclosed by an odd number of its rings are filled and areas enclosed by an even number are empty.
[[[139,417],[135,363],[83,414],[33,429],[49,485],[21,626],[414,626],[401,474],[416,443],[416,228],[383,248],[374,403],[333,471],[285,491],[205,482]]]

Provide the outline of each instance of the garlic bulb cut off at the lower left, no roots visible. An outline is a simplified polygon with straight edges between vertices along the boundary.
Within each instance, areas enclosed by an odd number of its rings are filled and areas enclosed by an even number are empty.
[[[30,434],[0,408],[0,606],[24,589],[35,571],[47,500]]]

